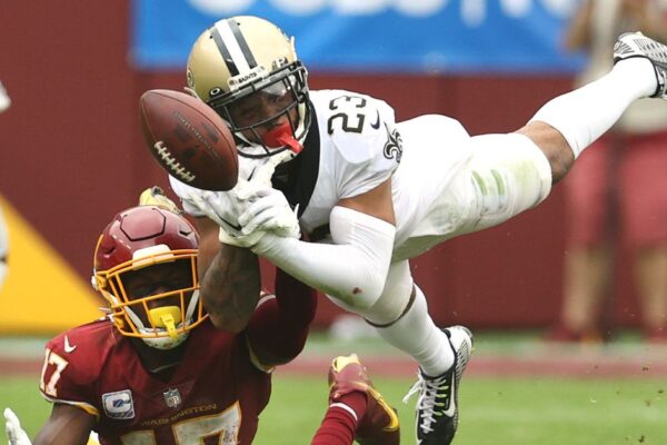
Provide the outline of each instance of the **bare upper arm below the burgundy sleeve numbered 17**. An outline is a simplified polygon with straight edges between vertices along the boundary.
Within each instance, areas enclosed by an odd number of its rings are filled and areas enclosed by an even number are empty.
[[[86,445],[96,418],[83,409],[54,404],[51,416],[37,433],[33,445]]]

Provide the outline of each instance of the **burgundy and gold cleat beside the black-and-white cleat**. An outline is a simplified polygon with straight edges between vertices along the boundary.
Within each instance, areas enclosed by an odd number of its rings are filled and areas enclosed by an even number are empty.
[[[367,406],[357,423],[355,441],[360,445],[398,445],[400,425],[396,409],[374,388],[357,354],[334,358],[329,368],[329,403],[356,390],[366,394]]]

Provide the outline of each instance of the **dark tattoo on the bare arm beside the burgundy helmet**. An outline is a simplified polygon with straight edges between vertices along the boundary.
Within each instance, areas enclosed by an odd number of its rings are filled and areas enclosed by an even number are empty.
[[[213,325],[240,332],[257,307],[261,278],[259,260],[249,249],[220,245],[201,280],[201,298]]]

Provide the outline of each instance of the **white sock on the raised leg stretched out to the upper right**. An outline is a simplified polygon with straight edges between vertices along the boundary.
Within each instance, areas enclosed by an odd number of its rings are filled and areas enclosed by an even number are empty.
[[[578,158],[633,101],[653,95],[656,82],[655,68],[648,59],[621,60],[600,79],[551,99],[530,122],[541,121],[556,128]]]

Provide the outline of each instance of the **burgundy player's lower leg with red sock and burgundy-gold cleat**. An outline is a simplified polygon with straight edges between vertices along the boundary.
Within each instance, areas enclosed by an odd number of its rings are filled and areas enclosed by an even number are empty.
[[[312,445],[398,445],[396,409],[375,389],[356,354],[334,358],[329,368],[329,408]]]

